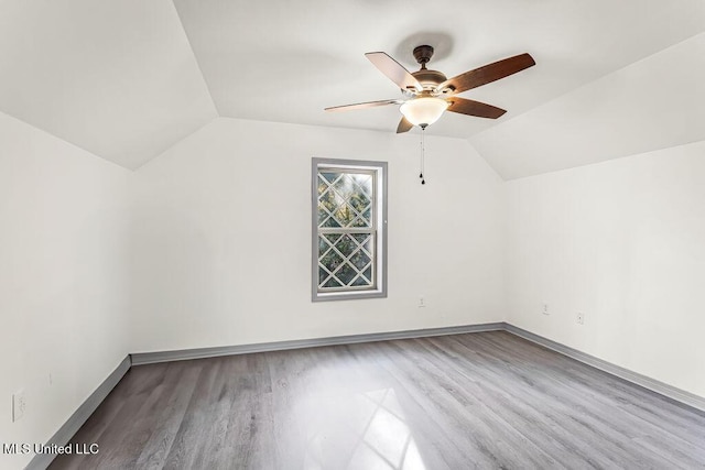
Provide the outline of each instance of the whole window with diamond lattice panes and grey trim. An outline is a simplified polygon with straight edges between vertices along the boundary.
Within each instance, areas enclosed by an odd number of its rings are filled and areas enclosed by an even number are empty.
[[[313,159],[314,302],[387,297],[387,163]]]

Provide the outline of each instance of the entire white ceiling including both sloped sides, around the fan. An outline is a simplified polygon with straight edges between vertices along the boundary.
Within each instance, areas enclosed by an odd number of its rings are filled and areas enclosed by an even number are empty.
[[[2,0],[0,111],[137,168],[217,117],[394,132],[398,98],[364,56],[447,76],[528,52],[536,66],[446,113],[505,178],[705,139],[702,0]]]

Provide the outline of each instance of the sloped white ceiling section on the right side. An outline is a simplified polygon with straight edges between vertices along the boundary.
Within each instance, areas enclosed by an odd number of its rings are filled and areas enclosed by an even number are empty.
[[[470,139],[506,179],[705,140],[705,33]]]

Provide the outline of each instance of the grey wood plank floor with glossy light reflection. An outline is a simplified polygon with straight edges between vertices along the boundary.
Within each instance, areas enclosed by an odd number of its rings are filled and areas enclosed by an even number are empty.
[[[134,367],[52,469],[697,469],[705,414],[503,331]]]

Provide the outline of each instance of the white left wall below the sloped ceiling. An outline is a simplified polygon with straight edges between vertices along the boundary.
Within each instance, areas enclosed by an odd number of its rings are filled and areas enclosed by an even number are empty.
[[[128,177],[0,113],[2,442],[46,442],[129,352]],[[0,468],[32,457],[0,455]]]

